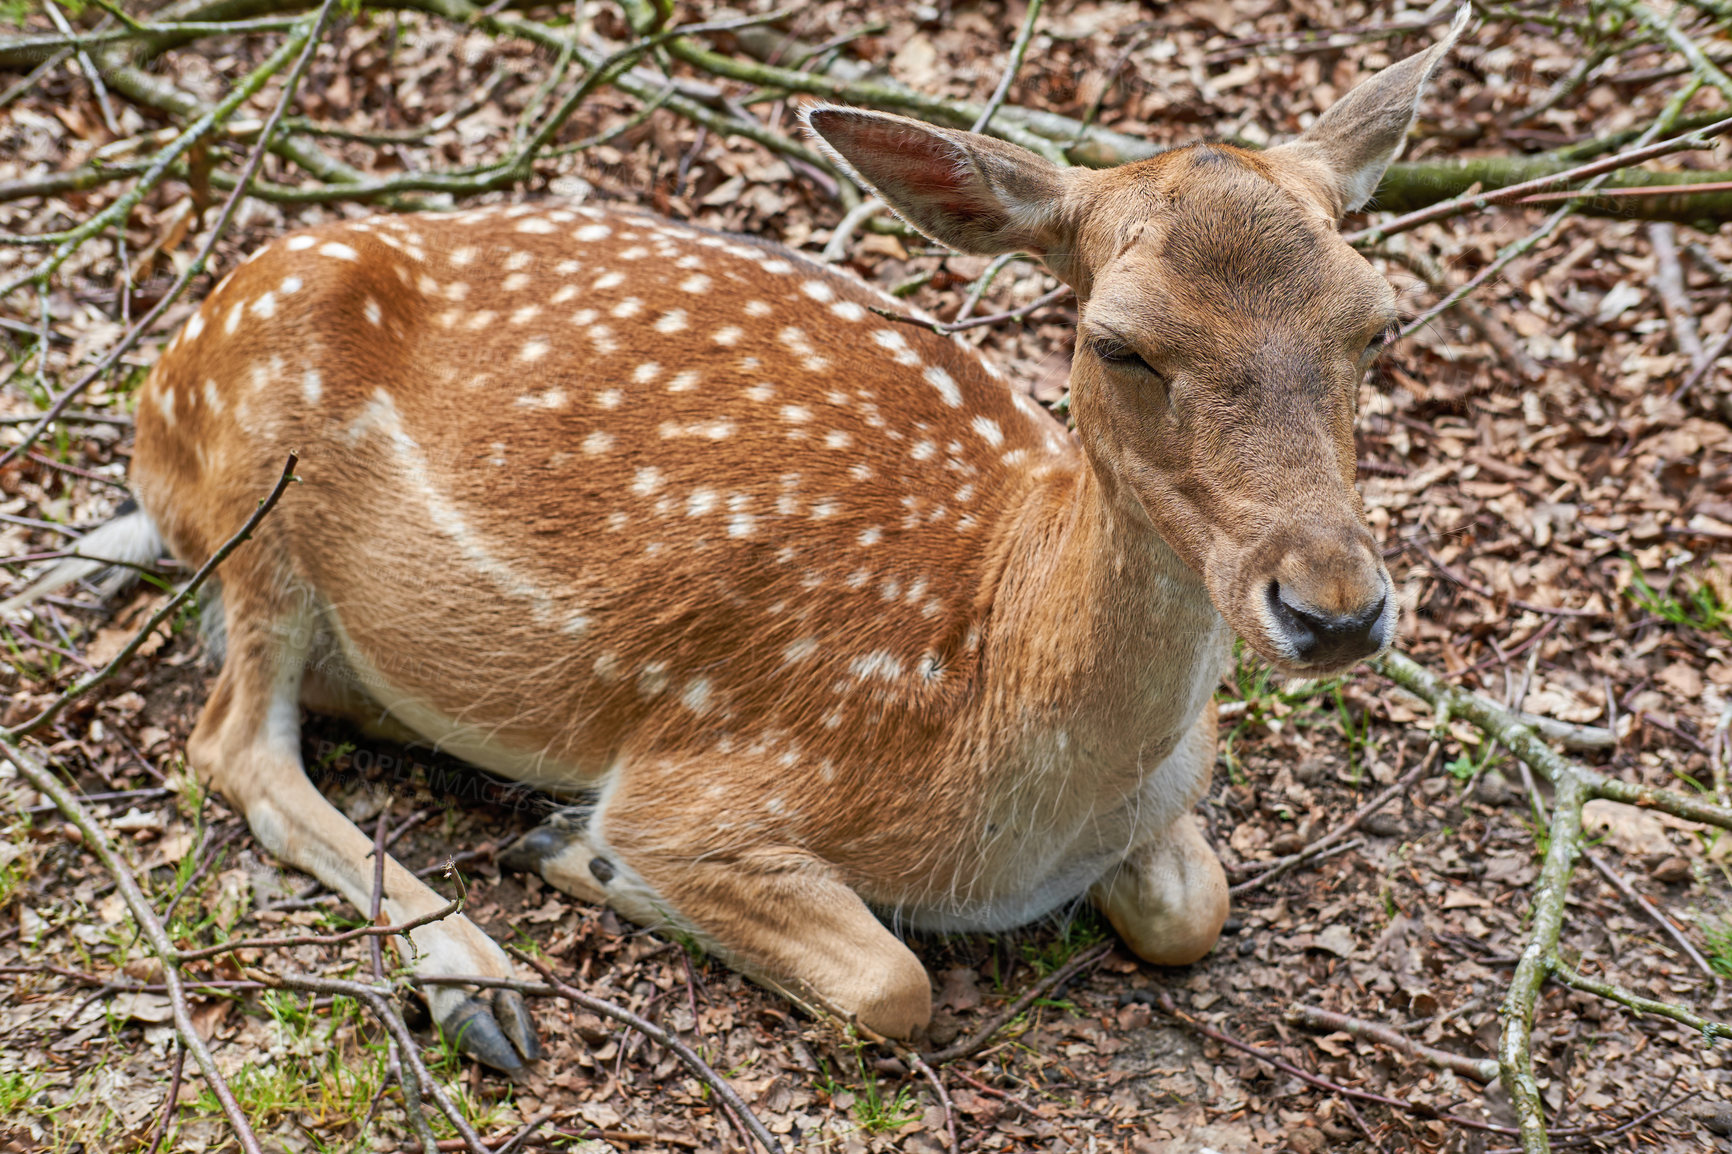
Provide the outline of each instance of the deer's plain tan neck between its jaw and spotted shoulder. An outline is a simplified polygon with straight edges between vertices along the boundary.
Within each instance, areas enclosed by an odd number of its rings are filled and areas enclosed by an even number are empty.
[[[1034,482],[1015,504],[989,645],[996,688],[1103,771],[1140,776],[1195,723],[1231,631],[1148,515],[1091,463]],[[1114,773],[1117,776],[1117,773]]]

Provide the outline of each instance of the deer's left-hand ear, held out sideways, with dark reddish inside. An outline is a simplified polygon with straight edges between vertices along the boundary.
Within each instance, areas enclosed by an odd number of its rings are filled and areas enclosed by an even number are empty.
[[[1015,144],[889,113],[819,104],[802,120],[830,159],[934,241],[1065,263],[1072,229],[1067,177],[1057,165]]]

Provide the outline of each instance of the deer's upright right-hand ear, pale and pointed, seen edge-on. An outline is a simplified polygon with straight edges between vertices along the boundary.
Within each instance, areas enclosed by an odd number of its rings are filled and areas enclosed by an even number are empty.
[[[1268,156],[1290,158],[1322,177],[1337,218],[1365,204],[1384,170],[1401,154],[1425,85],[1462,35],[1470,12],[1464,3],[1443,40],[1377,73],[1335,100],[1304,135],[1270,149]]]

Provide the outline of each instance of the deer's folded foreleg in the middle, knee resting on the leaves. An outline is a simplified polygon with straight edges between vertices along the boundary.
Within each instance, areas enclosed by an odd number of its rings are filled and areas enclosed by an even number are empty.
[[[925,1029],[925,967],[831,866],[795,847],[717,847],[707,833],[674,818],[665,790],[634,801],[617,788],[599,807],[553,814],[502,863],[639,925],[691,934],[766,986],[878,1034]]]

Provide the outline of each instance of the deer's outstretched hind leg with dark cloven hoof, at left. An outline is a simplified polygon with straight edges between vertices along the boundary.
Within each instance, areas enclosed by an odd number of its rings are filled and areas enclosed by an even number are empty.
[[[239,558],[237,558],[239,560]],[[313,788],[301,768],[300,690],[312,610],[296,598],[258,596],[260,582],[225,580],[229,653],[187,742],[199,778],[246,814],[253,835],[296,870],[312,873],[355,908],[372,899],[372,839]],[[381,913],[393,924],[445,904],[395,859],[385,863]],[[423,977],[513,977],[511,960],[462,915],[409,932]],[[483,1000],[457,986],[428,986],[440,1028],[461,1048],[499,1069],[540,1057],[523,998],[499,989]]]

